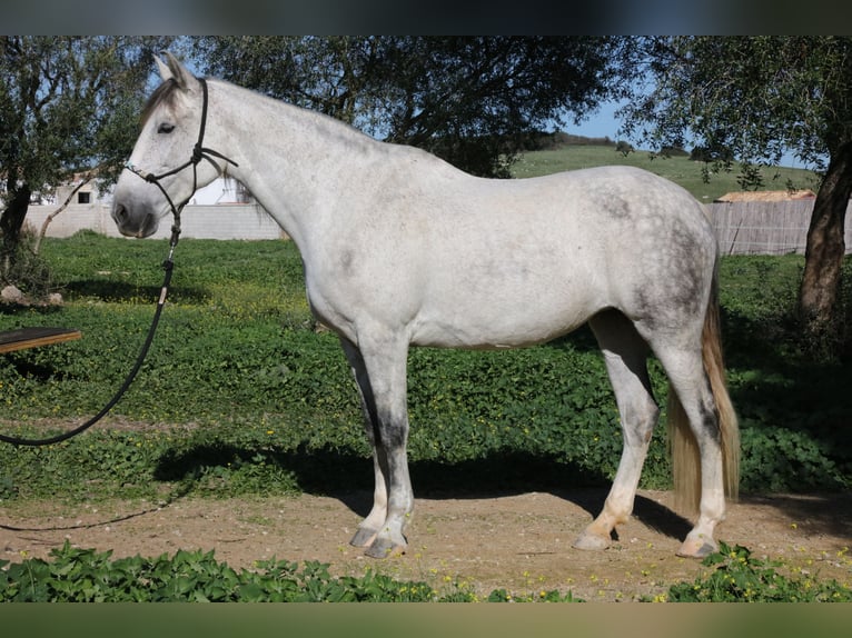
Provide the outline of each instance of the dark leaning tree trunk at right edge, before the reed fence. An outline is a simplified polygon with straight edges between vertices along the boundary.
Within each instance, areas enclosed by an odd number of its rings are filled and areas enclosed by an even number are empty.
[[[840,282],[845,241],[843,227],[852,193],[852,143],[840,147],[829,162],[808,229],[799,311],[813,346],[839,343]]]

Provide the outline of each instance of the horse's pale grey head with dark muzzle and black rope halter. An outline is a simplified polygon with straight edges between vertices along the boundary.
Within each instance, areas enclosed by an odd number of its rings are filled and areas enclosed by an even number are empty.
[[[201,153],[206,87],[170,53],[165,57],[156,58],[162,83],[145,107],[142,131],[113,195],[112,219],[129,237],[152,235],[172,208],[220,173]]]

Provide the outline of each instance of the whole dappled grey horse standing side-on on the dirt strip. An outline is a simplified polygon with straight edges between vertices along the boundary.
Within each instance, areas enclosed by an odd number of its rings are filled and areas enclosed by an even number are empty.
[[[716,548],[725,492],[736,491],[739,437],[720,350],[716,241],[685,190],[627,167],[475,178],[422,150],[198,79],[168,53],[158,64],[164,82],[112,216],[122,233],[149,236],[172,201],[227,173],[296,242],[310,308],[340,338],[374,449],[374,505],[353,545],[373,557],[406,548],[409,346],[515,348],[588,322],[624,450],[602,512],[575,546],[607,547],[632,511],[658,416],[646,370],[653,352],[671,385],[676,492],[697,511],[678,554]]]

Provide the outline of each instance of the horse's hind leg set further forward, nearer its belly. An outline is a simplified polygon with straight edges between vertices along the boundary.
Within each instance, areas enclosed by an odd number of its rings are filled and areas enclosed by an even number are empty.
[[[604,353],[615,391],[624,449],[603,510],[579,535],[574,547],[604,549],[610,546],[615,526],[625,522],[633,511],[642,466],[660,409],[647,375],[648,347],[633,323],[621,312],[608,310],[591,319],[590,326]]]

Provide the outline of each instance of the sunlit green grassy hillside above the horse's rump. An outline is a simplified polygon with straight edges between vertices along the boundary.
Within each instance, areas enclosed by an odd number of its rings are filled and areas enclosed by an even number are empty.
[[[562,170],[576,170],[596,166],[626,165],[650,170],[680,183],[699,201],[709,203],[726,192],[742,190],[736,182],[739,167],[732,172],[711,176],[705,183],[701,162],[688,157],[653,157],[648,151],[634,151],[625,156],[614,146],[567,144],[554,150],[529,151],[513,167],[517,178],[537,177]],[[794,188],[816,190],[816,176],[810,170],[767,167],[762,169],[763,187],[759,190],[783,190],[790,180]]]

